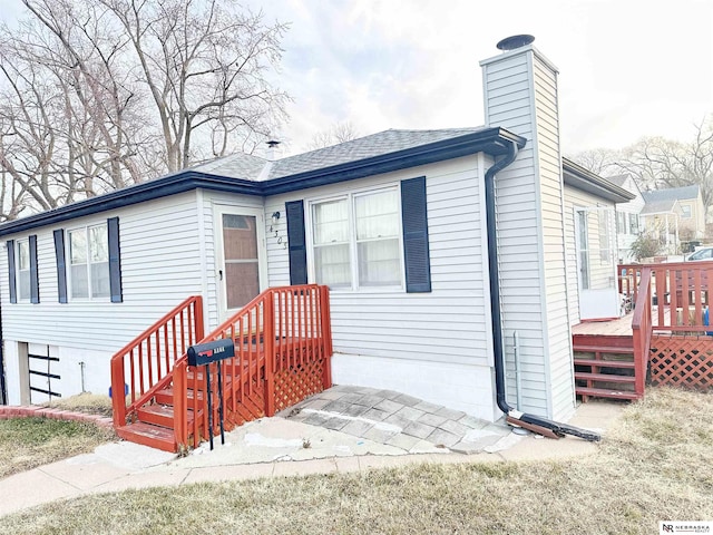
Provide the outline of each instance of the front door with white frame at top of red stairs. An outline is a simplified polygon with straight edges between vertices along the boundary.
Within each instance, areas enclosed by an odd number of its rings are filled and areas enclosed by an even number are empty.
[[[216,208],[221,321],[237,312],[266,286],[262,210]]]

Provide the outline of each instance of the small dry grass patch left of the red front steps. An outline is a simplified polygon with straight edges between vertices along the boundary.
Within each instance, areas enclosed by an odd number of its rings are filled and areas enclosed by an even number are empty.
[[[0,478],[92,451],[113,437],[113,431],[79,421],[0,420]]]

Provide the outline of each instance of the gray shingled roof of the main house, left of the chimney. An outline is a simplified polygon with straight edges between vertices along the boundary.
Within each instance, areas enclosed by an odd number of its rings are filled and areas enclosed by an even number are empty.
[[[248,154],[234,154],[196,165],[194,171],[247,181],[265,181],[326,169],[389,153],[398,153],[430,143],[442,142],[484,130],[478,128],[447,128],[439,130],[384,130],[331,147],[268,162]]]

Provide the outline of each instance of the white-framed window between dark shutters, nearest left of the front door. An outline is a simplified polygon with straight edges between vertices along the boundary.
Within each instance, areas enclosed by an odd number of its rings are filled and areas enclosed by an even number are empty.
[[[107,225],[68,231],[69,286],[72,299],[108,298],[109,240]]]

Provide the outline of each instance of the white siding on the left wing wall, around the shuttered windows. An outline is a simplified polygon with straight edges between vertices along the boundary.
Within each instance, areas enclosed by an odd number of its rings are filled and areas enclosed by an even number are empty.
[[[37,228],[41,304],[4,308],[6,340],[91,348],[110,357],[180,301],[201,293],[195,192],[107,212],[101,218],[110,216],[120,224],[124,302],[58,302],[52,231],[91,225],[96,216]],[[0,262],[7,272],[7,257]],[[1,286],[8,302],[7,283]]]

